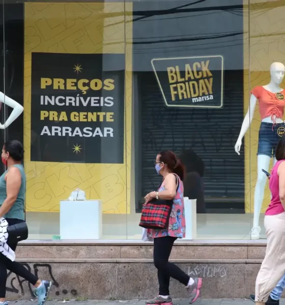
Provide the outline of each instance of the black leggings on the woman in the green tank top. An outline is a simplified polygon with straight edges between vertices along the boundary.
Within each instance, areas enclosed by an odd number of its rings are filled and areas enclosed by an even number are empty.
[[[9,225],[14,225],[22,222],[22,220],[13,218],[6,218],[6,220],[8,221]],[[13,251],[16,250],[17,243],[9,242],[9,237],[7,243]],[[21,278],[24,278],[32,285],[35,285],[38,281],[38,278],[34,276],[33,273],[31,273],[29,270],[27,270],[27,268],[25,268],[22,264],[15,261],[12,262],[9,258],[0,253],[0,298],[6,297],[7,269],[14,272]]]

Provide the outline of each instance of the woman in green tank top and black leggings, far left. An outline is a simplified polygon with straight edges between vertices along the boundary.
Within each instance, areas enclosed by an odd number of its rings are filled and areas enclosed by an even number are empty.
[[[4,217],[9,225],[24,222],[25,219],[26,176],[21,164],[23,153],[23,145],[17,140],[7,141],[2,149],[2,162],[7,170],[0,177],[0,218]],[[9,242],[8,236],[7,243],[15,251],[17,242]],[[8,305],[5,299],[7,269],[34,285],[38,305],[44,304],[52,283],[39,280],[22,264],[0,253],[0,305]]]

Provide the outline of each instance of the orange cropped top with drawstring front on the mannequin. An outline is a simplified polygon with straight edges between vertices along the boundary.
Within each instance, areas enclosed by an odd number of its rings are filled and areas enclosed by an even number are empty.
[[[259,100],[261,119],[271,116],[273,123],[275,123],[277,117],[283,117],[285,90],[278,93],[272,93],[266,90],[263,86],[256,86],[251,90],[251,93]]]

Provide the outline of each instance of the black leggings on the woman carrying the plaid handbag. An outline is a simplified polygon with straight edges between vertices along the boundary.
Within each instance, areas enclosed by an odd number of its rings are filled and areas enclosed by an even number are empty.
[[[188,285],[190,277],[168,259],[177,238],[171,236],[154,238],[153,259],[157,268],[159,295],[169,295],[170,277],[176,279],[185,286]]]

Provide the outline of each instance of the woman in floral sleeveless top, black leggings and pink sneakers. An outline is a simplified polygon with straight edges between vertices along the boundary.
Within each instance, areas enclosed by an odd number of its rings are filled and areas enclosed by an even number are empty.
[[[200,294],[202,287],[201,278],[190,278],[178,266],[168,261],[172,251],[173,243],[177,238],[185,237],[185,215],[183,201],[183,179],[185,169],[180,160],[170,150],[161,151],[156,157],[155,169],[163,177],[158,191],[151,192],[145,197],[145,204],[154,198],[173,200],[173,206],[169,218],[168,229],[148,229],[149,238],[154,238],[154,265],[158,269],[158,295],[147,304],[172,305],[169,296],[170,277],[178,280],[187,288],[190,303],[193,303]]]

